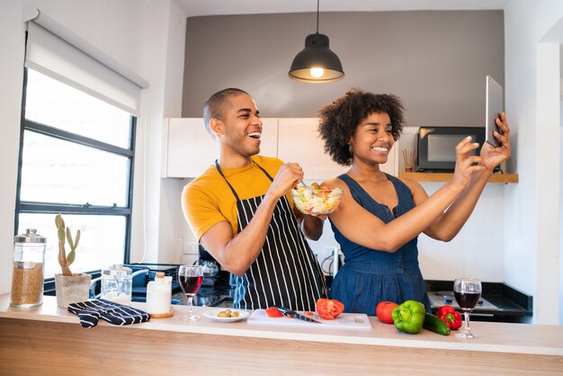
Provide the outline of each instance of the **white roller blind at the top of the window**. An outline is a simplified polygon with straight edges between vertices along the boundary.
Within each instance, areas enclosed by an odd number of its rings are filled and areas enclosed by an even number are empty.
[[[35,8],[24,10],[23,21],[26,67],[139,115],[140,89],[147,81]]]

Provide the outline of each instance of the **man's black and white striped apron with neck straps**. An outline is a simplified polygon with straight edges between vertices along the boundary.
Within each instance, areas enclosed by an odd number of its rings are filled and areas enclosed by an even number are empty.
[[[255,165],[273,181],[262,166]],[[240,200],[217,161],[215,166],[237,199],[237,228],[240,232],[253,218],[264,195]],[[315,310],[319,298],[326,298],[325,276],[284,195],[273,210],[260,255],[243,276],[237,276],[234,307],[266,309],[279,304],[296,310]]]

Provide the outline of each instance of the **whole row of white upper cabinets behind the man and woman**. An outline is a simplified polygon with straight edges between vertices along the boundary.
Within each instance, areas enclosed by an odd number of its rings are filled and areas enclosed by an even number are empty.
[[[348,170],[325,154],[324,142],[318,136],[317,118],[263,118],[260,155],[297,162],[305,179],[318,183]],[[217,159],[215,141],[201,118],[167,118],[164,122],[163,177],[189,178],[201,175]],[[398,172],[398,144],[381,170]]]

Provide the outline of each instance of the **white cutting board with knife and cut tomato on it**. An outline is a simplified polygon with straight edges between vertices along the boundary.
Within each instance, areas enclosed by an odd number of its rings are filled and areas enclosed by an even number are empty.
[[[300,312],[299,312],[300,313]],[[269,318],[264,309],[255,309],[250,318],[246,320],[248,324],[269,325],[279,327],[316,327],[322,328],[345,328],[345,329],[362,329],[370,330],[371,323],[368,315],[364,313],[342,313],[334,320],[325,320],[319,318],[317,314],[313,317],[322,324],[311,323],[298,318]]]

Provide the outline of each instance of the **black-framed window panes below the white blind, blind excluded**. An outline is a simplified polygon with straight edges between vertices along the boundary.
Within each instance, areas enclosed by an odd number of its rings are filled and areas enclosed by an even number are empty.
[[[136,118],[31,68],[22,103],[15,228],[47,237],[45,277],[60,273],[58,212],[81,230],[73,273],[129,262]]]

